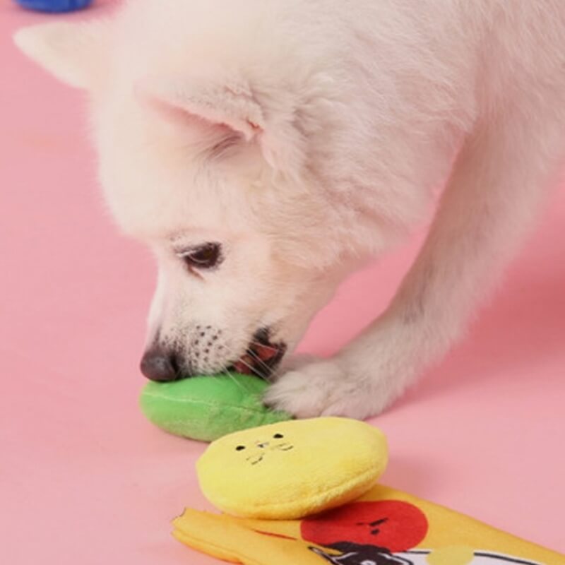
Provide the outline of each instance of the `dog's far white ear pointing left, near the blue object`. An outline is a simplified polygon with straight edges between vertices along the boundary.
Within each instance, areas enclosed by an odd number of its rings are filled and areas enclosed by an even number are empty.
[[[104,20],[44,23],[21,28],[13,39],[60,81],[89,89],[100,79],[107,61],[109,25]]]

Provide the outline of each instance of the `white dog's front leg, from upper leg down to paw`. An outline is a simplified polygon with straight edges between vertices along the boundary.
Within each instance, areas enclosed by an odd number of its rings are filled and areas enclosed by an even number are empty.
[[[556,172],[562,126],[554,116],[532,122],[506,115],[470,136],[391,306],[335,357],[283,374],[268,405],[299,417],[376,415],[446,353],[527,232]]]

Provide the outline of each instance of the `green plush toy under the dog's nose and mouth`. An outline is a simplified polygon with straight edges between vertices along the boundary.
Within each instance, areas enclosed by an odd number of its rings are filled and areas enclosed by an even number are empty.
[[[151,381],[141,392],[141,410],[166,432],[213,441],[241,429],[290,420],[286,412],[263,405],[267,387],[263,379],[237,373]]]

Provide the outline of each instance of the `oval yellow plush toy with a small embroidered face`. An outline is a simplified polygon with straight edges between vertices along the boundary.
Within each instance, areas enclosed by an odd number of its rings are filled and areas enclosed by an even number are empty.
[[[388,461],[379,429],[347,418],[279,422],[214,441],[196,463],[205,496],[252,518],[300,518],[356,499]]]

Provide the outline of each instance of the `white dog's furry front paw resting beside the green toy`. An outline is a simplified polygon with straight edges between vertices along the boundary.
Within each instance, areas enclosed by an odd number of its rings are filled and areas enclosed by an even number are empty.
[[[343,416],[364,420],[384,408],[367,376],[348,374],[329,359],[288,371],[268,389],[263,401],[299,418]]]

